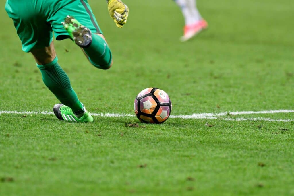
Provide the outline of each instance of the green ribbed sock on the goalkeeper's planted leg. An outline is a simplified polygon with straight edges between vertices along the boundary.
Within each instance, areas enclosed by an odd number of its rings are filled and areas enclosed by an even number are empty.
[[[84,112],[83,104],[78,100],[76,92],[71,87],[69,77],[57,63],[56,58],[46,65],[38,65],[42,73],[44,84],[61,101],[62,104],[69,106],[74,113]]]

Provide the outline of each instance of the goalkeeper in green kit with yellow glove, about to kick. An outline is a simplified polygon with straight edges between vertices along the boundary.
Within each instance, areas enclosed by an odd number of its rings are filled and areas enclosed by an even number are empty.
[[[108,0],[108,11],[116,26],[128,18],[128,7],[120,0]],[[57,118],[92,122],[93,117],[78,99],[69,77],[58,64],[53,45],[56,40],[72,39],[97,68],[112,66],[111,51],[87,0],[7,0],[5,10],[13,19],[22,50],[31,52],[43,81],[61,101],[54,105]]]

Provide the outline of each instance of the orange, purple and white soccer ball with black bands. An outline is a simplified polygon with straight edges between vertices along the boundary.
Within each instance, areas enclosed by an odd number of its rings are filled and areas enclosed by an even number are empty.
[[[159,88],[146,88],[134,101],[134,111],[141,122],[163,123],[171,114],[171,99]]]

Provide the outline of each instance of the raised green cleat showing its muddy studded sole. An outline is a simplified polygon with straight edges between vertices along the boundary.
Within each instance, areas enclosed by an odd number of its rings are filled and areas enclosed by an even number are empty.
[[[82,47],[87,48],[92,43],[92,33],[90,29],[79,23],[73,16],[66,16],[62,22],[64,29],[74,42]]]

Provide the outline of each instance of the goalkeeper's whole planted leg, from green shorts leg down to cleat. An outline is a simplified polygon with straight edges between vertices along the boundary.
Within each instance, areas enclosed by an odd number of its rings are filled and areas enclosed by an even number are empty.
[[[36,14],[37,8],[45,10],[42,4],[44,2],[38,1],[39,4],[34,4],[31,1],[9,0],[6,1],[5,10],[14,21],[22,50],[33,54],[45,85],[64,104],[62,107],[58,106],[59,111],[54,111],[56,116],[61,120],[91,122],[93,118],[78,100],[68,76],[57,62],[52,29],[46,20],[46,13],[43,18],[40,16],[42,13]],[[22,9],[23,7],[26,9]]]

